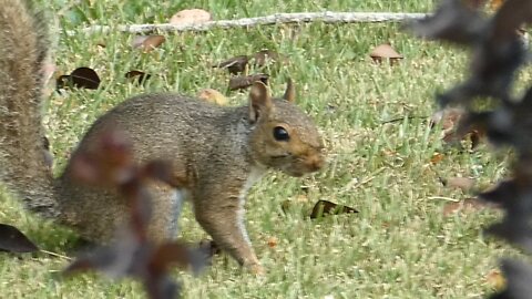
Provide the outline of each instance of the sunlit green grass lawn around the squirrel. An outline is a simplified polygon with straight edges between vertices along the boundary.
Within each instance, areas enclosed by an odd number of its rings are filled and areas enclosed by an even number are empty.
[[[54,16],[72,0],[41,2]],[[270,0],[244,6],[232,0],[81,2],[59,20],[64,29],[162,22],[192,7],[207,9],[216,19],[319,10],[426,12],[433,7],[433,1],[413,0]],[[471,176],[481,187],[491,185],[505,174],[504,155],[491,154],[487,146],[473,153],[451,148],[424,118],[382,124],[430,115],[436,91],[461,79],[463,52],[417,40],[390,23],[278,25],[166,38],[160,49],[142,54],[131,49],[130,34],[58,33],[58,70],[68,73],[91,66],[102,78],[98,91],[54,93],[49,101],[44,124],[58,173],[91,122],[116,103],[162,90],[190,95],[204,87],[225,92],[228,74],[209,65],[264,48],[289,56],[290,64],[273,74],[273,90],[280,94],[288,75],[297,82],[298,103],[316,120],[329,152],[328,166],[318,174],[297,179],[272,173],[252,189],[247,227],[267,275],[257,278],[233,260],[216,257],[200,277],[176,272],[185,298],[479,298],[492,291],[485,277],[497,268],[498,257],[516,254],[481,233],[499,214],[483,210],[446,217],[442,208],[448,202],[430,198],[471,196],[443,187],[439,177]],[[405,55],[399,65],[371,62],[369,51],[383,42]],[[132,69],[153,78],[145,86],[132,85],[123,79]],[[247,99],[245,93],[227,96],[233,105]],[[444,158],[432,165],[434,153],[443,153]],[[355,188],[346,188],[349,185]],[[318,199],[360,213],[310,220],[306,215]],[[283,213],[285,200],[289,208]],[[48,250],[72,250],[76,238],[72,231],[28,214],[14,198],[2,196],[0,203],[0,223],[18,226]],[[190,209],[181,226],[188,240],[205,237]],[[273,248],[272,237],[278,240]],[[143,298],[142,288],[132,281],[114,282],[96,275],[63,279],[58,272],[66,264],[44,255],[0,255],[0,297]]]

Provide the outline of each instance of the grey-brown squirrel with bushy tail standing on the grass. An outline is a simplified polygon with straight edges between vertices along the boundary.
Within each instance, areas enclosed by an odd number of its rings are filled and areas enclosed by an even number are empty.
[[[129,215],[124,199],[115,190],[76,183],[70,163],[59,177],[49,169],[41,115],[49,40],[41,13],[31,1],[0,0],[0,183],[29,209],[89,240],[108,243]],[[325,163],[316,125],[294,105],[294,97],[291,81],[283,99],[273,99],[263,83],[254,83],[249,104],[239,107],[170,93],[134,96],[98,118],[74,155],[94,146],[109,126],[120,126],[139,162],[168,159],[180,182],[178,188],[150,186],[150,237],[174,238],[186,199],[217,246],[262,272],[244,226],[248,188],[268,169],[301,176]]]

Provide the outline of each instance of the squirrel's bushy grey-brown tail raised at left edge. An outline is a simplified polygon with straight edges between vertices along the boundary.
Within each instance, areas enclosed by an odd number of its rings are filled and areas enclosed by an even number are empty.
[[[41,123],[48,31],[28,0],[0,0],[0,184],[32,210],[57,217]]]

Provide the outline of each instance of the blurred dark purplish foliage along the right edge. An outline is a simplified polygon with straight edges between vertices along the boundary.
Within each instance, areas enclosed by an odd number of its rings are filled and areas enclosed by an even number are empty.
[[[480,194],[480,198],[504,209],[500,223],[491,225],[491,235],[532,252],[532,87],[515,96],[513,89],[519,69],[530,58],[528,47],[518,33],[532,20],[532,1],[508,0],[487,18],[464,1],[442,1],[436,13],[410,24],[418,35],[466,45],[472,58],[464,82],[438,95],[442,107],[463,107],[459,131],[485,132],[499,146],[515,151],[512,177]],[[483,101],[487,110],[478,110]],[[492,105],[488,105],[492,103]],[[507,288],[491,298],[531,298],[532,267],[523,261],[503,260]]]

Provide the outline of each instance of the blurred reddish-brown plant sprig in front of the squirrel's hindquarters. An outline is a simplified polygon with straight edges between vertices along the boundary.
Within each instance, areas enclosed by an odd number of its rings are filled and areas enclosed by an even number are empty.
[[[132,277],[144,285],[151,299],[180,296],[180,285],[170,272],[173,266],[195,274],[207,264],[205,248],[191,248],[178,241],[151,239],[152,218],[149,182],[173,185],[171,165],[150,161],[136,165],[132,143],[119,128],[103,132],[91,150],[76,152],[74,173],[82,184],[117,189],[130,206],[129,220],[119,227],[113,244],[96,248],[74,260],[65,274],[99,270],[111,278]]]

